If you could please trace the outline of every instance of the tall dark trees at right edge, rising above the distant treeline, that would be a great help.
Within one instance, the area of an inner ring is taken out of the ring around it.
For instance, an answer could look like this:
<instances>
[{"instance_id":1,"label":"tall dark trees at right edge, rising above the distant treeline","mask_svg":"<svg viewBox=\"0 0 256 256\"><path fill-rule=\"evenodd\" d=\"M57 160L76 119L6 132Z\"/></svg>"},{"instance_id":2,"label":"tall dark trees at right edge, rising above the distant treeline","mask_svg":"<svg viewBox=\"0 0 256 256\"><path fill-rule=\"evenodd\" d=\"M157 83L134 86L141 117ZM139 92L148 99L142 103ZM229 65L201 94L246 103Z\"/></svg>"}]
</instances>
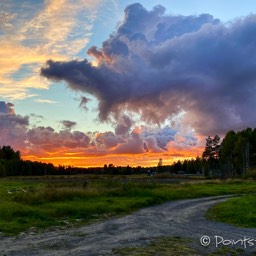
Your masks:
<instances>
[{"instance_id":1,"label":"tall dark trees at right edge, rising above the distant treeline","mask_svg":"<svg viewBox=\"0 0 256 256\"><path fill-rule=\"evenodd\" d=\"M211 177L240 177L256 170L256 129L229 131L221 141L218 135L206 138L201 157L178 161L173 173L204 174Z\"/></svg>"}]
</instances>

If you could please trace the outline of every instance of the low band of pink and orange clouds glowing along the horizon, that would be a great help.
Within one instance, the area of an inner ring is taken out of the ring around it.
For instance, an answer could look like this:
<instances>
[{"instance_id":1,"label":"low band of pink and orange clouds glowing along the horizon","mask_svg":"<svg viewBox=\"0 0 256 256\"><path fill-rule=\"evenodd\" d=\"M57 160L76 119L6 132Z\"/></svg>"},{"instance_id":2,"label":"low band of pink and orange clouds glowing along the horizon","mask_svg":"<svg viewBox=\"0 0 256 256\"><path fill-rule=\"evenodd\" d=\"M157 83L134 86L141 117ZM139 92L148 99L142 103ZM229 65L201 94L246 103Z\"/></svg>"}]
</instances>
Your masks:
<instances>
[{"instance_id":1,"label":"low band of pink and orange clouds glowing along the horizon","mask_svg":"<svg viewBox=\"0 0 256 256\"><path fill-rule=\"evenodd\" d=\"M35 114L31 117L43 118ZM117 164L119 161L117 159L124 159L126 156L127 162L119 164L133 162L134 165L150 165L152 164L150 161L154 159L157 162L163 153L168 155L170 162L176 156L173 154L179 154L181 157L196 156L194 150L201 145L197 136L191 131L182 133L171 128L170 125L136 126L127 115L118 119L114 132L84 133L73 131L76 122L62 120L60 123L62 124L60 131L50 126L36 124L31 127L28 116L17 115L12 103L0 101L0 146L10 145L15 150L20 150L25 159L55 164L63 164L62 161L65 161L65 164L86 165L88 161L93 162L88 158L94 157L103 157L100 159L101 163L103 159L108 159L111 163ZM142 155L145 155L144 162ZM87 160L82 164L81 159ZM93 165L99 165L99 159L94 161Z\"/></svg>"}]
</instances>

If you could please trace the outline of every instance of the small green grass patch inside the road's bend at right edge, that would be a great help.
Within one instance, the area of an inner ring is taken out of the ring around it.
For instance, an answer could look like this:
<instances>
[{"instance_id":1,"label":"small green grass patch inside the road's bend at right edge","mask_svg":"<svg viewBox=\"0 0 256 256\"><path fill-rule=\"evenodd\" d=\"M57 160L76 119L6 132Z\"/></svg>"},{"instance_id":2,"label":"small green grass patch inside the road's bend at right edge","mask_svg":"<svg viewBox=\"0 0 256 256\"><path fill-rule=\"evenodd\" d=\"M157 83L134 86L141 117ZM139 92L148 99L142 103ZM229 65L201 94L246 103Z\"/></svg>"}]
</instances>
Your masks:
<instances>
[{"instance_id":1,"label":"small green grass patch inside the road's bend at right edge","mask_svg":"<svg viewBox=\"0 0 256 256\"><path fill-rule=\"evenodd\" d=\"M210 208L206 217L239 227L256 228L256 195L232 198Z\"/></svg>"}]
</instances>

